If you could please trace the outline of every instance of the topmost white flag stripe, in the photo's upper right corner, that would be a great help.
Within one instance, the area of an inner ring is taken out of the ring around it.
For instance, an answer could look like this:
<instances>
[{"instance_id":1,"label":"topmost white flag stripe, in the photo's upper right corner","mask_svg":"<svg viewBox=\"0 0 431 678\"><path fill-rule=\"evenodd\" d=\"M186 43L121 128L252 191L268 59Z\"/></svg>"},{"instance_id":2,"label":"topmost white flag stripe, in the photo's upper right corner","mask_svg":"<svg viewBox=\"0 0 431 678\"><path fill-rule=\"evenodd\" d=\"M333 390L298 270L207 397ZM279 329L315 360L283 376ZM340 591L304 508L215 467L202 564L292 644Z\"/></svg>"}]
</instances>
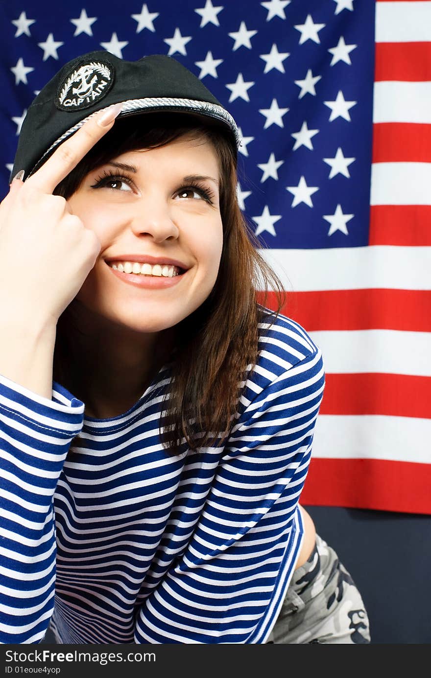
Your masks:
<instances>
[{"instance_id":1,"label":"topmost white flag stripe, in the photo's upper right corner","mask_svg":"<svg viewBox=\"0 0 431 678\"><path fill-rule=\"evenodd\" d=\"M377 2L376 42L428 42L431 2Z\"/></svg>"}]
</instances>

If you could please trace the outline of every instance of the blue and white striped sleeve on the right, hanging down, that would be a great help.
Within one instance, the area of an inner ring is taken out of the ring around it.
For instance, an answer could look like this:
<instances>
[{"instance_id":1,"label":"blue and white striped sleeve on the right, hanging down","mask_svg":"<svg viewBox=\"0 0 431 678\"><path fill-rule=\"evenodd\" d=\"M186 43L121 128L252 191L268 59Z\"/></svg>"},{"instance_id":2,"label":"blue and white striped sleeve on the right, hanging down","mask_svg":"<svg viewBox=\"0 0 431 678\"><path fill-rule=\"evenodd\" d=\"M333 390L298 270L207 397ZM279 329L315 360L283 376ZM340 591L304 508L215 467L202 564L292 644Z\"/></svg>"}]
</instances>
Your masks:
<instances>
[{"instance_id":1,"label":"blue and white striped sleeve on the right, hanging down","mask_svg":"<svg viewBox=\"0 0 431 678\"><path fill-rule=\"evenodd\" d=\"M265 643L303 540L323 388L317 348L250 401L187 550L140 607L136 643Z\"/></svg>"}]
</instances>

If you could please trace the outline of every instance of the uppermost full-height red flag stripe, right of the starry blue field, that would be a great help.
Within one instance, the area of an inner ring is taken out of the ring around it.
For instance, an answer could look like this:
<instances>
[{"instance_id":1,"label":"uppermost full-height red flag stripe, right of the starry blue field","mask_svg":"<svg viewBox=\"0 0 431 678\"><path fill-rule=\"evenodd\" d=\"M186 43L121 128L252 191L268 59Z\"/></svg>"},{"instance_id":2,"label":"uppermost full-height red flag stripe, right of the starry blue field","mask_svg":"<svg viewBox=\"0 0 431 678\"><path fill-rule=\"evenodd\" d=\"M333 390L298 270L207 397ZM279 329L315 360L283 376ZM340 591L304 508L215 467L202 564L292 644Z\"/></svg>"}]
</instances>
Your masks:
<instances>
[{"instance_id":1,"label":"uppermost full-height red flag stripe, right of the starry blue field","mask_svg":"<svg viewBox=\"0 0 431 678\"><path fill-rule=\"evenodd\" d=\"M375 82L431 80L431 43L376 43Z\"/></svg>"}]
</instances>

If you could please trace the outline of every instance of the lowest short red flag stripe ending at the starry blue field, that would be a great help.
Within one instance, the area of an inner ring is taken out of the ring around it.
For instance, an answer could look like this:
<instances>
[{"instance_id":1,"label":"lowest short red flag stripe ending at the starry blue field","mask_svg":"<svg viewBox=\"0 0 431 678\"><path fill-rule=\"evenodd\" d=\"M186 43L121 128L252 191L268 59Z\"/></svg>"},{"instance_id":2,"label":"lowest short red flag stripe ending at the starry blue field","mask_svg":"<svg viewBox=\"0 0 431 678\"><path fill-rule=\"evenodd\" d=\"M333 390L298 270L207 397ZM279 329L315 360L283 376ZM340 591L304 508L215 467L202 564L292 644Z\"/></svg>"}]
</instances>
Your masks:
<instances>
[{"instance_id":1,"label":"lowest short red flag stripe ending at the starry blue field","mask_svg":"<svg viewBox=\"0 0 431 678\"><path fill-rule=\"evenodd\" d=\"M373 205L369 245L431 245L431 205Z\"/></svg>"}]
</instances>

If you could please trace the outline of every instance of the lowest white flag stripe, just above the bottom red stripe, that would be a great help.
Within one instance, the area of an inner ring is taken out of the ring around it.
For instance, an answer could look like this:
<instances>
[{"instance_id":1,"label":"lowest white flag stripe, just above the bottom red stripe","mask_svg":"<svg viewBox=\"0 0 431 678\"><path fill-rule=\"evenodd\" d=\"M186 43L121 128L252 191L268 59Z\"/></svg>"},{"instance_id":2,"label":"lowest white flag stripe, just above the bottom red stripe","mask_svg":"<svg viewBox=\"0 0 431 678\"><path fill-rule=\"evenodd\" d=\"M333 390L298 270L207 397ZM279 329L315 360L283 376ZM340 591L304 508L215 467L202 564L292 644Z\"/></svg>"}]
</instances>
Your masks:
<instances>
[{"instance_id":1,"label":"lowest white flag stripe, just above the bottom red stripe","mask_svg":"<svg viewBox=\"0 0 431 678\"><path fill-rule=\"evenodd\" d=\"M313 456L431 463L431 420L419 417L319 414ZM312 462L313 463L313 462Z\"/></svg>"}]
</instances>

